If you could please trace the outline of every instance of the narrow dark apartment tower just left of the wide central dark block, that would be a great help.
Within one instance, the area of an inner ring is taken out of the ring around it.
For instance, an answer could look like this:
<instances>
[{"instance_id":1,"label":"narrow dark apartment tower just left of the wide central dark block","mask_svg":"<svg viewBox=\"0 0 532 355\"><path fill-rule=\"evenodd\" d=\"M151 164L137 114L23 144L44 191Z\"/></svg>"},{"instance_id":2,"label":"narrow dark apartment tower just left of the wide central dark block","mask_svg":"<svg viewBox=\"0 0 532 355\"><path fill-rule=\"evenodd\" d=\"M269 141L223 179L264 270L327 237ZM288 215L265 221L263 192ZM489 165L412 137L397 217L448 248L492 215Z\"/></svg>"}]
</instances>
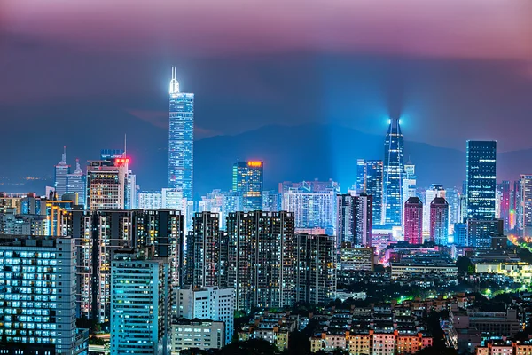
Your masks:
<instances>
[{"instance_id":1,"label":"narrow dark apartment tower just left of the wide central dark block","mask_svg":"<svg viewBox=\"0 0 532 355\"><path fill-rule=\"evenodd\" d=\"M197 212L192 217L192 231L187 236L186 277L184 287L221 286L220 216Z\"/></svg>"}]
</instances>

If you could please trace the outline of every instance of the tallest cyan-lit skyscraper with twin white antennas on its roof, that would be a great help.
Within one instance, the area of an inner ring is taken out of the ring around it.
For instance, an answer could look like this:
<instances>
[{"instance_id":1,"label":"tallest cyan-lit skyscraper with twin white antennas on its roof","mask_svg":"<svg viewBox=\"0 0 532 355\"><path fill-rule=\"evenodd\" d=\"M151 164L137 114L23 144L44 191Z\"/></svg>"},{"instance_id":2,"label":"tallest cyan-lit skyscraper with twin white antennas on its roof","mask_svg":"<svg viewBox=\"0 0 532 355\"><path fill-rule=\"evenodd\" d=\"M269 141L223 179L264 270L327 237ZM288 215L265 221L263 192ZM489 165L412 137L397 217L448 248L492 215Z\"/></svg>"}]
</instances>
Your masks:
<instances>
[{"instance_id":1,"label":"tallest cyan-lit skyscraper with twin white antennas on its roof","mask_svg":"<svg viewBox=\"0 0 532 355\"><path fill-rule=\"evenodd\" d=\"M183 197L189 201L192 201L193 150L194 94L179 92L176 67L172 67L168 136L168 187L183 191Z\"/></svg>"}]
</instances>

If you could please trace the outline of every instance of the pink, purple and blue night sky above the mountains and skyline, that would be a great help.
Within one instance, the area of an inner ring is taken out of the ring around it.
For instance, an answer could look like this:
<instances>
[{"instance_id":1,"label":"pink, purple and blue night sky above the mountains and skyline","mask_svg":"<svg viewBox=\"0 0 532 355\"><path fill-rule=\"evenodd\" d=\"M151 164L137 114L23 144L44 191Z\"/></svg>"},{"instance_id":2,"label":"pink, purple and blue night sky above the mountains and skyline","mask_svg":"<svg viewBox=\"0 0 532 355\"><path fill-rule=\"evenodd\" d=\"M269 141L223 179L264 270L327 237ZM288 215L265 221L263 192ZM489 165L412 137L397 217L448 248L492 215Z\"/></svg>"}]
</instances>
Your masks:
<instances>
[{"instance_id":1,"label":"pink, purple and blue night sky above the mountains and skyline","mask_svg":"<svg viewBox=\"0 0 532 355\"><path fill-rule=\"evenodd\" d=\"M172 65L197 139L306 123L384 136L392 114L407 141L532 148L530 19L530 0L2 0L0 176L51 175L35 166L62 146L95 158L125 132L167 154Z\"/></svg>"}]
</instances>

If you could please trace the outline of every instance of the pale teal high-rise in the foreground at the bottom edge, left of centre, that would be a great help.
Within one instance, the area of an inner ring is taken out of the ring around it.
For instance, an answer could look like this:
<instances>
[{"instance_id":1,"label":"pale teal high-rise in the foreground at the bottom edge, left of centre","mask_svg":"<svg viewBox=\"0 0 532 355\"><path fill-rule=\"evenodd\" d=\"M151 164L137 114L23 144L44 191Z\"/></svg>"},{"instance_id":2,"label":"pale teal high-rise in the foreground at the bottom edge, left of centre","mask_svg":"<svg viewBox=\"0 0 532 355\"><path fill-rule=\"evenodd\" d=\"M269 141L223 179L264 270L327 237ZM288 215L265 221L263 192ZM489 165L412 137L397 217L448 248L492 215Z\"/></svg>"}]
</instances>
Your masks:
<instances>
[{"instance_id":1,"label":"pale teal high-rise in the foreground at the bottom edge, left of centre","mask_svg":"<svg viewBox=\"0 0 532 355\"><path fill-rule=\"evenodd\" d=\"M121 248L111 264L111 353L170 353L170 264L153 247Z\"/></svg>"}]
</instances>

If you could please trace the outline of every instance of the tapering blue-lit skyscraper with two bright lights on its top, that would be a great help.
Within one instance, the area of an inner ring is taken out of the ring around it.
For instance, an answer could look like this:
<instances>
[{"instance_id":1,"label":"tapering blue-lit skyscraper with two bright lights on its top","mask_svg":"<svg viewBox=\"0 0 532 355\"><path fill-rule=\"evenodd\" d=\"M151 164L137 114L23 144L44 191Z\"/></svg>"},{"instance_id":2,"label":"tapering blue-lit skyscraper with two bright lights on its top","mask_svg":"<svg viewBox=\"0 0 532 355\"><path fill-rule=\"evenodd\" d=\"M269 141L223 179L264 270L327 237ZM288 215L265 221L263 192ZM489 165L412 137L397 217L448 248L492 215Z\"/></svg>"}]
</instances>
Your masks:
<instances>
[{"instance_id":1,"label":"tapering blue-lit skyscraper with two bright lights on its top","mask_svg":"<svg viewBox=\"0 0 532 355\"><path fill-rule=\"evenodd\" d=\"M401 225L403 214L403 133L399 119L390 119L384 142L383 211L385 225Z\"/></svg>"}]
</instances>

